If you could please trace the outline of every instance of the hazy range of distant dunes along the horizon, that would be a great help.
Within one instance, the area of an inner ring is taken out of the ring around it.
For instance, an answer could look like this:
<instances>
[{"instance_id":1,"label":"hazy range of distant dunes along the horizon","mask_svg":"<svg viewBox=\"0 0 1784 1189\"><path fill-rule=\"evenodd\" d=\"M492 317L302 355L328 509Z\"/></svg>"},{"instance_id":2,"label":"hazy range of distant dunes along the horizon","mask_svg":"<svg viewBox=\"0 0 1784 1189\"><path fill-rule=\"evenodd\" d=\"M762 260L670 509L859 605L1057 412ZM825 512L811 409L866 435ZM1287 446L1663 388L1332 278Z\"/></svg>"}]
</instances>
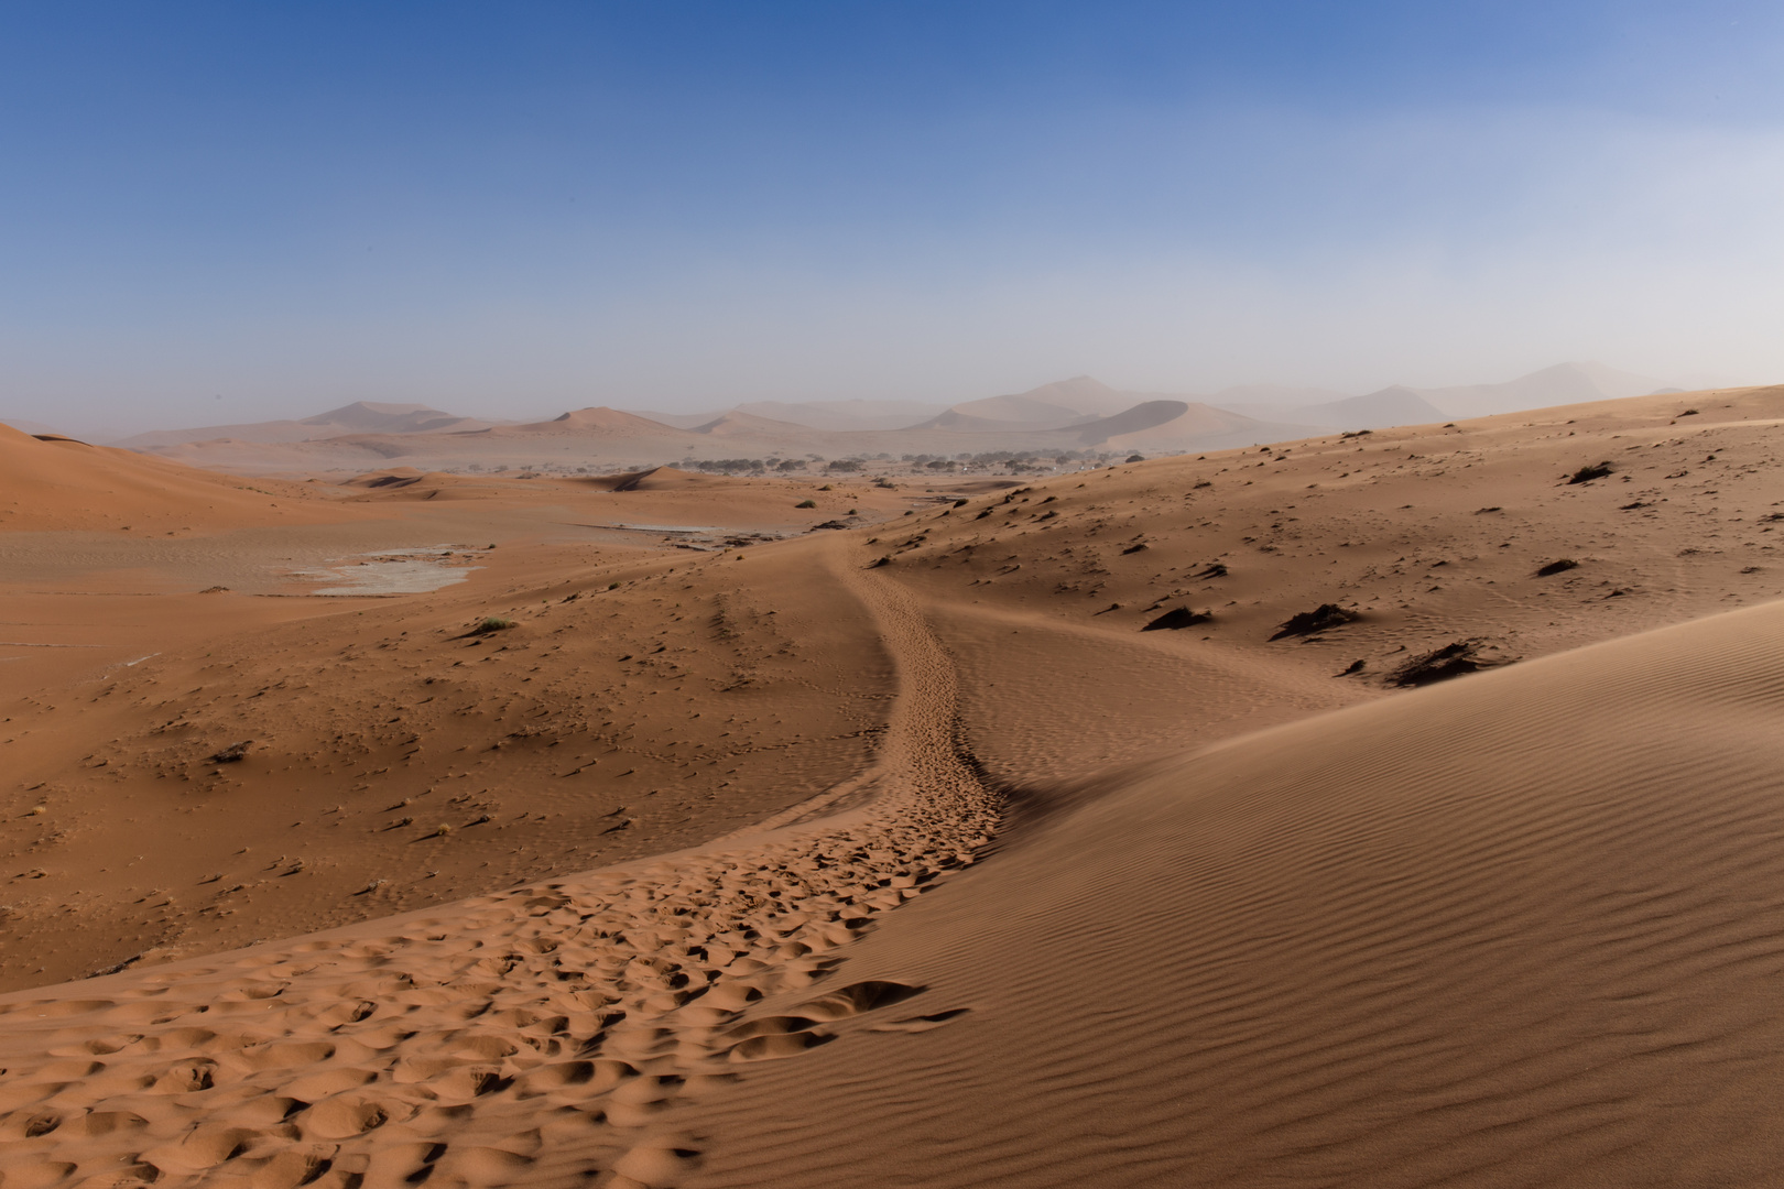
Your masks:
<instances>
[{"instance_id":1,"label":"hazy range of distant dunes along the horizon","mask_svg":"<svg viewBox=\"0 0 1784 1189\"><path fill-rule=\"evenodd\" d=\"M1195 453L1288 442L1322 430L1383 430L1454 417L1636 396L1659 383L1602 364L1561 364L1500 385L1365 396L1243 385L1211 398L1113 389L1074 376L947 408L919 401L760 401L708 414L591 406L537 422L489 422L423 405L357 403L303 421L137 435L125 446L216 471L310 474L405 460L428 471L485 467L639 469L724 458L958 456L1072 449ZM1152 422L1161 401L1197 412ZM1110 421L1127 417L1127 422ZM1145 426L1138 426L1145 421ZM1126 428L1122 428L1126 426ZM1145 435L1135 437L1140 430Z\"/></svg>"}]
</instances>

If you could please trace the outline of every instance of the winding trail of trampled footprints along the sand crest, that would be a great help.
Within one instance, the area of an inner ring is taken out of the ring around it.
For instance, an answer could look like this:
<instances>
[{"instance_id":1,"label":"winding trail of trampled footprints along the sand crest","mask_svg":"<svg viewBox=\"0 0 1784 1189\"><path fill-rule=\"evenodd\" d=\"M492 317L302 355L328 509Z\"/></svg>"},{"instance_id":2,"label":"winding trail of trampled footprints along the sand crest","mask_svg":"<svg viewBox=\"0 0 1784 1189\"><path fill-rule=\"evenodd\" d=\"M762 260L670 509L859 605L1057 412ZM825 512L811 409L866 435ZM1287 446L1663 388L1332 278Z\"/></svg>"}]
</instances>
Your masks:
<instances>
[{"instance_id":1,"label":"winding trail of trampled footprints along the sand crest","mask_svg":"<svg viewBox=\"0 0 1784 1189\"><path fill-rule=\"evenodd\" d=\"M43 1187L678 1184L703 1139L664 1132L658 1116L751 1062L838 1039L824 1025L919 993L814 984L876 914L970 863L997 824L995 793L956 745L953 665L917 601L840 549L828 560L897 672L878 761L849 783L871 800L624 868L7 996L0 1173ZM801 988L814 998L789 1014L746 1018Z\"/></svg>"}]
</instances>

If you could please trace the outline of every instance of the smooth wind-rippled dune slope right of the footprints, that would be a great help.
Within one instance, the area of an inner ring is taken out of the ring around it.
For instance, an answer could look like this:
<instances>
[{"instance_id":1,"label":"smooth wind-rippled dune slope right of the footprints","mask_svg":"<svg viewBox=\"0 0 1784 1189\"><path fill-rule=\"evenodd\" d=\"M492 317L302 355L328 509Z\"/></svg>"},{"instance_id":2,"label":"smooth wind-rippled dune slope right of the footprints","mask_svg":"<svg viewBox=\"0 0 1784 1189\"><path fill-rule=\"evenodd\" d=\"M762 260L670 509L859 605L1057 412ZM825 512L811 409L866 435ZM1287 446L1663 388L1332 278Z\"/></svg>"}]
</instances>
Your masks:
<instances>
[{"instance_id":1,"label":"smooth wind-rippled dune slope right of the footprints","mask_svg":"<svg viewBox=\"0 0 1784 1189\"><path fill-rule=\"evenodd\" d=\"M687 1184L1773 1184L1780 726L1770 604L1074 790Z\"/></svg>"}]
</instances>

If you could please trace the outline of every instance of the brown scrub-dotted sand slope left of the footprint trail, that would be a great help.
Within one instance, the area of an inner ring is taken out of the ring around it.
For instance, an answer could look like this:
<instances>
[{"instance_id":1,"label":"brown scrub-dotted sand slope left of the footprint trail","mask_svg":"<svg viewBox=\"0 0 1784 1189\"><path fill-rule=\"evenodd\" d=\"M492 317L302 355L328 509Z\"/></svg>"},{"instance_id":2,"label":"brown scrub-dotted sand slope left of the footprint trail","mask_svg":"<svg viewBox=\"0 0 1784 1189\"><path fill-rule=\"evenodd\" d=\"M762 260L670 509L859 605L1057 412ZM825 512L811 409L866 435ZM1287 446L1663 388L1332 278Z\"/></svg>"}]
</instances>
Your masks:
<instances>
[{"instance_id":1,"label":"brown scrub-dotted sand slope left of the footprint trail","mask_svg":"<svg viewBox=\"0 0 1784 1189\"><path fill-rule=\"evenodd\" d=\"M458 586L318 599L326 613L29 695L5 724L23 745L5 977L676 850L858 775L890 668L822 562L837 544L715 554L739 574L717 592L662 553L510 544ZM516 626L467 635L487 615ZM211 759L244 740L241 761Z\"/></svg>"}]
</instances>

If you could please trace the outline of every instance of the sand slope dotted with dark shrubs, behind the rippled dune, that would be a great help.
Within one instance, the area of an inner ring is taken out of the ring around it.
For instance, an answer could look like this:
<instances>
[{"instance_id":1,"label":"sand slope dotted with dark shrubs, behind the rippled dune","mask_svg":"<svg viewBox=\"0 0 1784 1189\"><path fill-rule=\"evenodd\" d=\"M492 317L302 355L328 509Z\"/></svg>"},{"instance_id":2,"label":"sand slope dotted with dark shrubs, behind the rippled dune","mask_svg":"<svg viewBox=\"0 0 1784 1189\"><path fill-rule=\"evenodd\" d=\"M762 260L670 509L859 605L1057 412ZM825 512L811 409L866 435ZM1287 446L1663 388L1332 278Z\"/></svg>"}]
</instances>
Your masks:
<instances>
[{"instance_id":1,"label":"sand slope dotted with dark shrubs, behind the rippled dune","mask_svg":"<svg viewBox=\"0 0 1784 1189\"><path fill-rule=\"evenodd\" d=\"M1058 476L867 540L946 624L981 759L1024 783L1113 761L1086 738L1111 722L1181 747L1251 677L1267 699L1293 685L1281 708L1308 713L1334 702L1286 670L1372 697L1459 640L1534 658L1780 597L1780 458L1784 389L1641 398ZM1322 604L1358 619L1272 640ZM1172 611L1210 619L1145 631ZM1103 658L1069 644L1085 633ZM1156 661L1136 654L1176 661L1177 683L1142 679ZM1029 709L1060 688L1122 711L1061 738Z\"/></svg>"}]
</instances>

